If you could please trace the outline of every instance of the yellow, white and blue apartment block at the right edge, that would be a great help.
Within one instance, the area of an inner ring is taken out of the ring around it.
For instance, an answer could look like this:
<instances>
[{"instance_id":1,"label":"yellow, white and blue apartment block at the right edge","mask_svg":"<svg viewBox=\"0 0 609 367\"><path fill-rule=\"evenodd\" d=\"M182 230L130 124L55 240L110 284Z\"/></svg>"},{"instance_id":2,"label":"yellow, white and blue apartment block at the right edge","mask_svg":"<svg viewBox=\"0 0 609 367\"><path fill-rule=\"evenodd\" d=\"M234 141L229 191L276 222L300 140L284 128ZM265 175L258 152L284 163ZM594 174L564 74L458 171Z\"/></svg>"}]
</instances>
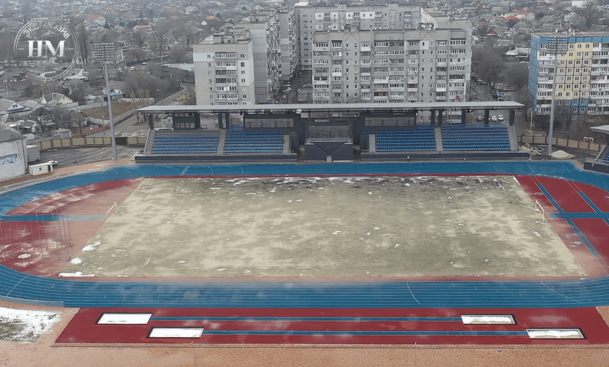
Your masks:
<instances>
[{"instance_id":1,"label":"yellow, white and blue apartment block at the right edge","mask_svg":"<svg viewBox=\"0 0 609 367\"><path fill-rule=\"evenodd\" d=\"M565 54L555 57L557 37ZM609 114L609 32L533 33L529 92L537 121L549 119L554 77L555 121Z\"/></svg>"}]
</instances>

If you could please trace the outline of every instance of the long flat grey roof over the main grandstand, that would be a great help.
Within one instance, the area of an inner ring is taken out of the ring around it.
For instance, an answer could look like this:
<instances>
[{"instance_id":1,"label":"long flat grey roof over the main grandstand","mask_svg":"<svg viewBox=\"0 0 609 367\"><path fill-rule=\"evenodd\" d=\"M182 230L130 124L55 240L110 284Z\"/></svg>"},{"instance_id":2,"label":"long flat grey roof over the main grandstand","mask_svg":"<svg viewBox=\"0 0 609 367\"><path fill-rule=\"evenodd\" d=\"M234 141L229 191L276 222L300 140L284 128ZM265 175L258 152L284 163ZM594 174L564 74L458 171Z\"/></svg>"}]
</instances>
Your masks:
<instances>
[{"instance_id":1,"label":"long flat grey roof over the main grandstand","mask_svg":"<svg viewBox=\"0 0 609 367\"><path fill-rule=\"evenodd\" d=\"M414 111L414 110L509 110L522 108L524 105L513 101L489 101L489 102L415 102L415 103L343 103L343 104L294 104L294 105L177 105L162 106L154 105L139 108L139 113L239 113L239 112L275 112L287 111Z\"/></svg>"}]
</instances>

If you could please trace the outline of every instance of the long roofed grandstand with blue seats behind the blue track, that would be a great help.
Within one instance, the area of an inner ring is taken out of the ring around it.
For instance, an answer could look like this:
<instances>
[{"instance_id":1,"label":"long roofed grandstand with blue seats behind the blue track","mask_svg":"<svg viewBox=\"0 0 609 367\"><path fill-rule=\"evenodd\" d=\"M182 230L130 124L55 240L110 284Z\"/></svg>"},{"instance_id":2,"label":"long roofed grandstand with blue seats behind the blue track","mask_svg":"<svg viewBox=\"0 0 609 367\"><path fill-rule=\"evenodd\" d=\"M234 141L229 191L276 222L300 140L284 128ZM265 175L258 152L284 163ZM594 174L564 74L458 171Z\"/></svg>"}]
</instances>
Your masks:
<instances>
[{"instance_id":1,"label":"long roofed grandstand with blue seats behind the blue track","mask_svg":"<svg viewBox=\"0 0 609 367\"><path fill-rule=\"evenodd\" d=\"M519 103L461 102L460 123L446 124L454 105L150 106L139 110L151 133L135 160L333 162L354 161L357 153L362 161L528 158L518 152L513 130ZM509 110L509 124L489 124L496 109ZM484 124L466 124L466 112L474 110L484 111ZM431 111L431 123L419 121L420 111ZM174 131L153 130L153 115L161 113L173 116ZM200 114L216 116L218 129L200 129Z\"/></svg>"}]
</instances>

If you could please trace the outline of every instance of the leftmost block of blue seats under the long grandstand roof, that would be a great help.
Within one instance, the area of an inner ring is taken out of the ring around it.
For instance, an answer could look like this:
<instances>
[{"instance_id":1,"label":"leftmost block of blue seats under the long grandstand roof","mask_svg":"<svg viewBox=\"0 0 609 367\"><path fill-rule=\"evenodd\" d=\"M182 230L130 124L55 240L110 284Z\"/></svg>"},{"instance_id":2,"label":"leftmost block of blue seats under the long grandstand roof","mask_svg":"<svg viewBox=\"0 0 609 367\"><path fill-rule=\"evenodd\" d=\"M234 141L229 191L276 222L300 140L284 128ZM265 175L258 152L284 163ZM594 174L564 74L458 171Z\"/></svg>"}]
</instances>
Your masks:
<instances>
[{"instance_id":1,"label":"leftmost block of blue seats under the long grandstand roof","mask_svg":"<svg viewBox=\"0 0 609 367\"><path fill-rule=\"evenodd\" d=\"M152 153L216 153L219 135L155 135Z\"/></svg>"}]
</instances>

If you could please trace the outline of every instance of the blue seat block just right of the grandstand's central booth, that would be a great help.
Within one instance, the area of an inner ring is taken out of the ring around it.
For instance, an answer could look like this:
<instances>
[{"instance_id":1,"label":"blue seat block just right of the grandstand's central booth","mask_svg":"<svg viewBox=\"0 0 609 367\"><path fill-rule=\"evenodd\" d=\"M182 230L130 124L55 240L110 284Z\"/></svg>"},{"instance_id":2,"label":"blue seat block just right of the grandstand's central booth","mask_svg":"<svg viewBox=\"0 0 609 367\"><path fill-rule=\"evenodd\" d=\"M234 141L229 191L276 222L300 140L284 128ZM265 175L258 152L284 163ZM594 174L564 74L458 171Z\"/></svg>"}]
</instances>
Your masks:
<instances>
[{"instance_id":1,"label":"blue seat block just right of the grandstand's central booth","mask_svg":"<svg viewBox=\"0 0 609 367\"><path fill-rule=\"evenodd\" d=\"M435 150L435 133L431 125L419 125L415 130L377 130L376 152L407 152Z\"/></svg>"}]
</instances>

